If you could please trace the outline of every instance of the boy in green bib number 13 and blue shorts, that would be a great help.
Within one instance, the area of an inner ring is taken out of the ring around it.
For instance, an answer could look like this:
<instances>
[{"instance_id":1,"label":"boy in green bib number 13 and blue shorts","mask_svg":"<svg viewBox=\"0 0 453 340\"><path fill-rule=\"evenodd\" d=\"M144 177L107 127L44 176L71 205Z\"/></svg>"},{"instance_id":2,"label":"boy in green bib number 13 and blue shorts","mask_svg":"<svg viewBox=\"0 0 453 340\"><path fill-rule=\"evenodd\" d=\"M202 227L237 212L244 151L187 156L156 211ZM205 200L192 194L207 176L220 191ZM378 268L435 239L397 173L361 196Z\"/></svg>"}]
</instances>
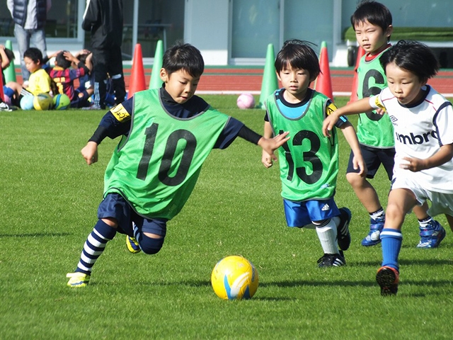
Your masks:
<instances>
[{"instance_id":1,"label":"boy in green bib number 13 and blue shorts","mask_svg":"<svg viewBox=\"0 0 453 340\"><path fill-rule=\"evenodd\" d=\"M307 42L285 42L277 54L275 71L283 88L265 101L264 136L282 131L291 135L291 140L278 150L287 225L316 229L324 252L319 267L344 266L343 250L351 242L351 212L348 208L338 209L333 200L338 175L337 135L326 138L321 130L324 118L336 106L309 88L320 69L318 57ZM346 118L337 126L354 152L354 168L365 176L367 170L354 128ZM262 162L272 166L272 155L265 150Z\"/></svg>"}]
</instances>

